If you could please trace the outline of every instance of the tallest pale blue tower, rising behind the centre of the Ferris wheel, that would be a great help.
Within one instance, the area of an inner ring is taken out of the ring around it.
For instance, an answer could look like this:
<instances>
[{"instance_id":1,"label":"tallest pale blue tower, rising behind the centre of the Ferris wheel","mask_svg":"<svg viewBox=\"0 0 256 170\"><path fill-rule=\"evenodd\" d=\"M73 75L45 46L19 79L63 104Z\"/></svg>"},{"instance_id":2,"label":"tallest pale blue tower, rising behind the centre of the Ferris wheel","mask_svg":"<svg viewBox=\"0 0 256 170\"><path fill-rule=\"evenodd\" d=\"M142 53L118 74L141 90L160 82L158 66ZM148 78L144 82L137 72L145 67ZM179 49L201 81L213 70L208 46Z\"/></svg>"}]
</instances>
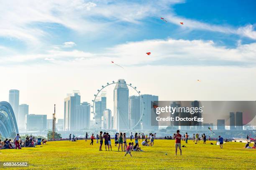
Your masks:
<instances>
[{"instance_id":1,"label":"tallest pale blue tower, rising behind the centre of the Ferris wheel","mask_svg":"<svg viewBox=\"0 0 256 170\"><path fill-rule=\"evenodd\" d=\"M129 89L124 79L119 79L114 88L114 129L128 129Z\"/></svg>"}]
</instances>

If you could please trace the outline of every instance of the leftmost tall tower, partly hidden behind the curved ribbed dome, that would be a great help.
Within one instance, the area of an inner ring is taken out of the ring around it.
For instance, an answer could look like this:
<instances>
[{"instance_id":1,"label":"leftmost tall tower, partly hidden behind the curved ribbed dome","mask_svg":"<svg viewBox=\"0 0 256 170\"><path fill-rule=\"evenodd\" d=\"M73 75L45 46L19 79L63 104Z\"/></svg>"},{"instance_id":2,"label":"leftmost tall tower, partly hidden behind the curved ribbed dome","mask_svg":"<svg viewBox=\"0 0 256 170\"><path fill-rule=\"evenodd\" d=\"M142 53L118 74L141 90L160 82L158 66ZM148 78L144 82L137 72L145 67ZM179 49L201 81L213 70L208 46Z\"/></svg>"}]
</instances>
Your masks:
<instances>
[{"instance_id":1,"label":"leftmost tall tower, partly hidden behind the curved ribbed dome","mask_svg":"<svg viewBox=\"0 0 256 170\"><path fill-rule=\"evenodd\" d=\"M15 114L18 127L19 127L19 98L20 98L19 90L9 90L9 103L13 107L13 112Z\"/></svg>"}]
</instances>

